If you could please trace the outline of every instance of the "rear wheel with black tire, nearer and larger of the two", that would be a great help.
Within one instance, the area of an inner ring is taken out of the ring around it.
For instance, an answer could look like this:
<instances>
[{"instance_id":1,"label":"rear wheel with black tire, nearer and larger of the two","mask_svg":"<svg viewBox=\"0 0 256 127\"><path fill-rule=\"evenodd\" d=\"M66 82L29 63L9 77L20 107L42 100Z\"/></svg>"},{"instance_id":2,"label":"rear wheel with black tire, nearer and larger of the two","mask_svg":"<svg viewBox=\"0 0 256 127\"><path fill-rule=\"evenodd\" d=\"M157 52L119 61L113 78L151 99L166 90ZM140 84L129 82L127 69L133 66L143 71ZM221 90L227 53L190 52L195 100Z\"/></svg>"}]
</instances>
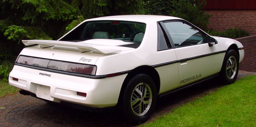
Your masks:
<instances>
[{"instance_id":1,"label":"rear wheel with black tire, nearer and larger of the two","mask_svg":"<svg viewBox=\"0 0 256 127\"><path fill-rule=\"evenodd\" d=\"M143 92L141 92L140 94L139 92L137 92L137 90L143 89L142 86L144 86L144 88L147 88L147 89L146 90L144 89L146 93L142 90ZM139 89L136 89L136 88L139 88ZM151 99L150 99L150 90L151 90L151 97L152 97ZM144 98L143 96L140 96L140 95L143 95L146 97ZM140 99L140 101L138 101L138 99ZM127 121L133 124L143 123L147 119L149 119L150 115L154 111L156 100L157 100L157 90L152 78L143 73L135 75L128 81L126 89L124 90L124 93L123 93L123 98L121 102L122 103L121 110L123 112L123 116L127 119ZM132 102L134 104L133 106L132 106Z\"/></svg>"}]
</instances>

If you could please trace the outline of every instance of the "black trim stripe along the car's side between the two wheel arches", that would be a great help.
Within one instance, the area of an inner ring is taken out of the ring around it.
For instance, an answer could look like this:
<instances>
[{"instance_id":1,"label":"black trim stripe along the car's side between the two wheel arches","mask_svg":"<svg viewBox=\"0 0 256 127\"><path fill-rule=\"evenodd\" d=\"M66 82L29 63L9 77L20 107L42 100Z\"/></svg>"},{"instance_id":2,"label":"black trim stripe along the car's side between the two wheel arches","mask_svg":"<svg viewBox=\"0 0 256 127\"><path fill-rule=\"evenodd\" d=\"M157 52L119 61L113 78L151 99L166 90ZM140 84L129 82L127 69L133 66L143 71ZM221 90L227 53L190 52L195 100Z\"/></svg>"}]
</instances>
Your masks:
<instances>
[{"instance_id":1,"label":"black trim stripe along the car's side between the two wheel arches","mask_svg":"<svg viewBox=\"0 0 256 127\"><path fill-rule=\"evenodd\" d=\"M210 56L210 55L221 54L221 53L224 53L224 52L227 52L227 50L223 50L223 51L219 51L219 52L213 52L213 53L210 53L210 54L199 55L199 56L196 56L196 57L189 57L189 58L185 58L185 59L182 59L182 60L175 60L175 61L170 61L170 62L166 62L166 63L156 64L156 65L152 65L152 67L161 67L161 66L165 66L165 65L169 65L169 64L174 64L174 63L193 60L193 59L197 59L197 58L207 57L207 56Z\"/></svg>"}]
</instances>

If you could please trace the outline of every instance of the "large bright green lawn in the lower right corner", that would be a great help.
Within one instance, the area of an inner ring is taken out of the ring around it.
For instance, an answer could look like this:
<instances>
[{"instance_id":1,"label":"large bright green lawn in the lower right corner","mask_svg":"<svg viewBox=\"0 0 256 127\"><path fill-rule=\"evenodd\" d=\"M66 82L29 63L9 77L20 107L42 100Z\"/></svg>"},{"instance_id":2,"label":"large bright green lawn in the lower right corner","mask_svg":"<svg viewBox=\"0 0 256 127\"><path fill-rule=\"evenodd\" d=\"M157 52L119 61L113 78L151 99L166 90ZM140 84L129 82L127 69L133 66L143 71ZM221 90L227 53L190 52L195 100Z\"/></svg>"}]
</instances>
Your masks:
<instances>
[{"instance_id":1,"label":"large bright green lawn in the lower right corner","mask_svg":"<svg viewBox=\"0 0 256 127\"><path fill-rule=\"evenodd\" d=\"M223 86L141 127L256 127L256 75Z\"/></svg>"}]
</instances>

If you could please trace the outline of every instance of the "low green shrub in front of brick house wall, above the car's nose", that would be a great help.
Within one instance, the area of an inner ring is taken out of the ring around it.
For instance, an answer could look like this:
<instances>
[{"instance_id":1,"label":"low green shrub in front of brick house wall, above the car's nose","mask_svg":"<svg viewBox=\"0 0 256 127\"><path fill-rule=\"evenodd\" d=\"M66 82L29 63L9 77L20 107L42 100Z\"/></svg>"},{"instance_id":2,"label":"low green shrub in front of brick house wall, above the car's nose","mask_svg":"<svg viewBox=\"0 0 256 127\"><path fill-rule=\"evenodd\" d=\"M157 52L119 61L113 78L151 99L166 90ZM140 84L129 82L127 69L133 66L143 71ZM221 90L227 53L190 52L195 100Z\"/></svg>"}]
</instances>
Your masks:
<instances>
[{"instance_id":1,"label":"low green shrub in front of brick house wall, above the car's nose","mask_svg":"<svg viewBox=\"0 0 256 127\"><path fill-rule=\"evenodd\" d=\"M241 28L230 28L226 31L214 31L212 29L206 31L209 35L227 37L227 38L240 38L250 36L250 34Z\"/></svg>"}]
</instances>

